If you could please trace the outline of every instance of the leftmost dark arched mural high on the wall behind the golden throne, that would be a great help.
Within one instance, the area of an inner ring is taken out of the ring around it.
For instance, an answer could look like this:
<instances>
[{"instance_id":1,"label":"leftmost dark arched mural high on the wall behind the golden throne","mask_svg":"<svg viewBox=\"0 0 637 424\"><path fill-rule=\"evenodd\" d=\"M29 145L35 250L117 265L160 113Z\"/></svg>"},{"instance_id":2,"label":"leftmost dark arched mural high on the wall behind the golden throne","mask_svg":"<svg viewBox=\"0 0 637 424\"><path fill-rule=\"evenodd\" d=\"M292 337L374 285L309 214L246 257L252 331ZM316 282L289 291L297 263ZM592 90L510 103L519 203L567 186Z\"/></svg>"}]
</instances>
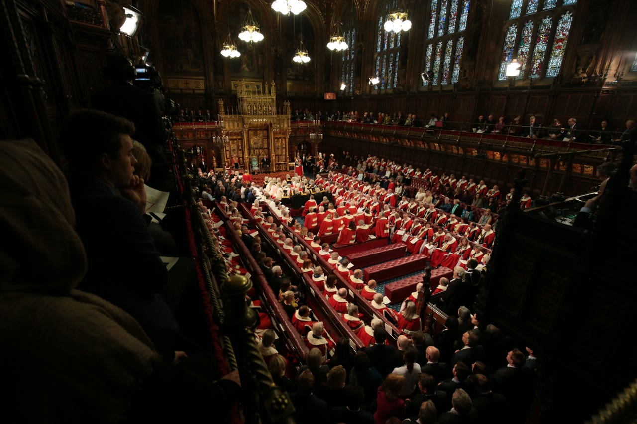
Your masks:
<instances>
[{"instance_id":1,"label":"leftmost dark arched mural high on the wall behind the golden throne","mask_svg":"<svg viewBox=\"0 0 637 424\"><path fill-rule=\"evenodd\" d=\"M166 73L203 73L201 24L190 1L162 0L157 6L157 29Z\"/></svg>"}]
</instances>

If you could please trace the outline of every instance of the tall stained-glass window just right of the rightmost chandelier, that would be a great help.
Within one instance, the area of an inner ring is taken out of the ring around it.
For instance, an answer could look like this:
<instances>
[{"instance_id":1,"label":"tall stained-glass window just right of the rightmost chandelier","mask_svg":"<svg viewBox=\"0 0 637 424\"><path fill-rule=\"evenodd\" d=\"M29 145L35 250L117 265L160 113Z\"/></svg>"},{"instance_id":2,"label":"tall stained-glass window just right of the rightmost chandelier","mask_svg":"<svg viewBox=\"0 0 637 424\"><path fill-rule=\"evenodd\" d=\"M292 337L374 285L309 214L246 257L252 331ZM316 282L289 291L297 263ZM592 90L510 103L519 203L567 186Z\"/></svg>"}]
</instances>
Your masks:
<instances>
[{"instance_id":1,"label":"tall stained-glass window just right of the rightmost chandelier","mask_svg":"<svg viewBox=\"0 0 637 424\"><path fill-rule=\"evenodd\" d=\"M424 63L425 71L431 71L431 76L422 85L458 81L468 16L469 0L431 1Z\"/></svg>"}]
</instances>

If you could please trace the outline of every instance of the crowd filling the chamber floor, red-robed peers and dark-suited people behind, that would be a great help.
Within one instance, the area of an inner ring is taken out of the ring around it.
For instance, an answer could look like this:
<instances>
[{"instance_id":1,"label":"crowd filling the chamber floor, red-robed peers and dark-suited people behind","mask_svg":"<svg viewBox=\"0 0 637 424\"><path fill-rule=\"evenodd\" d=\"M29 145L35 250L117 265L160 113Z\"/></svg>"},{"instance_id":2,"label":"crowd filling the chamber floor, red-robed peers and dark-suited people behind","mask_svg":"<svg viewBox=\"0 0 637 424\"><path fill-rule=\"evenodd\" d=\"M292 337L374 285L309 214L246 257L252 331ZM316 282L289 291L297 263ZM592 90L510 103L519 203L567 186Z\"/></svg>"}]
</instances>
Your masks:
<instances>
[{"instance_id":1,"label":"crowd filling the chamber floor, red-robed peers and dark-suited people behind","mask_svg":"<svg viewBox=\"0 0 637 424\"><path fill-rule=\"evenodd\" d=\"M368 160L369 165L380 169L382 161L375 164L377 159ZM402 171L397 171L398 167L391 162L385 167L392 173ZM232 178L222 176L220 180L224 185L231 183ZM499 422L504 417L510 422L521 421L533 399L534 352L526 348L526 355L523 354L524 344L516 348L486 317L472 314L469 309L475 299L479 271L488 261L488 247L494 239L490 223L497 217L491 215L488 222L485 219L480 224L473 219L459 220L458 216L466 218L461 212L466 204L457 206L455 202L443 201L436 206L433 195L424 188L413 198L401 196L397 201L389 186L394 181L389 181L385 188L384 183L371 185L343 173L330 173L327 178L317 176L315 180L290 178L285 187L292 192L304 187L308 192L329 192L334 197L334 202L324 198L320 203L310 198L303 208L303 224L288 219L290 211L278 196L283 184L275 179L266 178L263 185L250 183L243 190L248 193L245 197L251 203L249 209L237 201L218 202L282 303L287 318L310 349L308 357L303 358L306 365L299 369L290 367L290 352L280 352L281 346L276 346L276 340L285 335L277 334L278 329L273 327L266 328L270 320L262 317L263 325L257 330L259 349L275 382L291 393L297 420L303 422L385 423L393 418L419 423L486 423ZM482 185L472 184L473 192L482 190ZM210 222L215 243L226 252L228 270L245 272L233 262L232 243L223 238L223 227L217 229L215 225L218 217L203 204L200 208ZM454 209L459 215L452 213ZM259 225L262 229L256 234L254 230ZM392 311L403 334L397 337L396 346L387 344L390 338L385 330L387 321L373 318L367 322L359 311L361 304L354 302L355 299L360 302L361 298L353 299L352 293L339 283L346 281L352 292L360 293L373 307L389 309L375 290L376 281L365 283L361 269L341 258L329 243L322 242L322 238L329 236L336 236L337 244L364 243L369 237L399 241L407 236L408 246L416 245L411 253L420 251L432 261L452 265L454 278L441 279L436 289L445 292L441 308L448 318L443 330L433 336L422 331L420 318L415 314L418 288L399 313ZM410 243L411 239L416 243ZM422 243L418 245L419 241ZM277 264L264 248L278 253L284 263ZM283 269L288 269L289 276ZM292 280L297 285L292 285ZM333 314L366 347L353 350L350 338L331 334L317 311L306 304L303 292L307 289L303 285L311 285L312 290L322 293ZM254 305L258 300L248 302Z\"/></svg>"}]
</instances>

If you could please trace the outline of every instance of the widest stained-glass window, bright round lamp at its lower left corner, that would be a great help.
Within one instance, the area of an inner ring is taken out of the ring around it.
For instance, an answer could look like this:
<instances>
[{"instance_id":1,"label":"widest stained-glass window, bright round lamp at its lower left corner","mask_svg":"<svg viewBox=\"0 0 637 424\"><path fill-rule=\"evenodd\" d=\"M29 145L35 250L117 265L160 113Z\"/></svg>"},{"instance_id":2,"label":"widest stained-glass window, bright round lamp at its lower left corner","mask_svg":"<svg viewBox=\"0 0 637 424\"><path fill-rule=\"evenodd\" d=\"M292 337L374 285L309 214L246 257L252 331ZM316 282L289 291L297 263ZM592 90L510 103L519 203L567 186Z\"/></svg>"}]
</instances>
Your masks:
<instances>
[{"instance_id":1,"label":"widest stained-glass window, bright round lamp at its lower left corner","mask_svg":"<svg viewBox=\"0 0 637 424\"><path fill-rule=\"evenodd\" d=\"M497 79L506 80L506 64L513 58L520 63L517 79L557 76L573 22L572 5L576 3L577 0L513 0Z\"/></svg>"}]
</instances>

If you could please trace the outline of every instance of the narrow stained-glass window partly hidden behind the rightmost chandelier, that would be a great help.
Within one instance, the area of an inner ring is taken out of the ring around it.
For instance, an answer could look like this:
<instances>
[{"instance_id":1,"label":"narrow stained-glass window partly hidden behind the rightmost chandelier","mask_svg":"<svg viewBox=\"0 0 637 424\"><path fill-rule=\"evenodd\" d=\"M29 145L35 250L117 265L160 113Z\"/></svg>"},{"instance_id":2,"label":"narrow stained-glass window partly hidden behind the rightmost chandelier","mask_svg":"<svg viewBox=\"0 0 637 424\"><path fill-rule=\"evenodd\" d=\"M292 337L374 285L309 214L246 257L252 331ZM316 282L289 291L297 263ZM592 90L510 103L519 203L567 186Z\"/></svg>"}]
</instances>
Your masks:
<instances>
[{"instance_id":1,"label":"narrow stained-glass window partly hidden behind the rightmost chandelier","mask_svg":"<svg viewBox=\"0 0 637 424\"><path fill-rule=\"evenodd\" d=\"M375 72L380 82L373 86L374 90L393 90L396 88L398 60L400 59L401 32L385 31L385 22L389 14L398 10L397 0L387 0L378 16L378 38L374 53Z\"/></svg>"}]
</instances>

